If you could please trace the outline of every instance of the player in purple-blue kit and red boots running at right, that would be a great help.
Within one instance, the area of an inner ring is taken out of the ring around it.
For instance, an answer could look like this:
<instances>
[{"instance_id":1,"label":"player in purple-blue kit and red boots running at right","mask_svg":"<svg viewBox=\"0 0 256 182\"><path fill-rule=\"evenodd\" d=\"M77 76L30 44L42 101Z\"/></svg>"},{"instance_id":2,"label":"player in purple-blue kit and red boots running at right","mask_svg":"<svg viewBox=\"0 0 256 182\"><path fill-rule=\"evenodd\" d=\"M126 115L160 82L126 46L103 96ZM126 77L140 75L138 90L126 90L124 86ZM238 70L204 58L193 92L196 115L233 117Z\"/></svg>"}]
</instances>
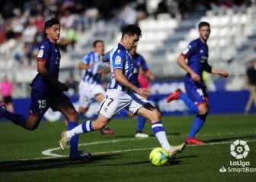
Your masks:
<instances>
[{"instance_id":1,"label":"player in purple-blue kit and red boots running at right","mask_svg":"<svg viewBox=\"0 0 256 182\"><path fill-rule=\"evenodd\" d=\"M178 64L187 72L184 78L187 94L182 93L181 89L177 89L167 98L168 102L181 99L185 105L196 114L194 124L190 128L186 139L186 143L192 145L203 145L203 142L195 136L200 131L201 127L203 127L209 109L206 86L202 80L203 71L222 77L229 76L226 71L217 70L208 64L208 46L206 42L210 36L210 24L200 22L198 31L200 37L190 42L187 49L178 56Z\"/></svg>"}]
</instances>

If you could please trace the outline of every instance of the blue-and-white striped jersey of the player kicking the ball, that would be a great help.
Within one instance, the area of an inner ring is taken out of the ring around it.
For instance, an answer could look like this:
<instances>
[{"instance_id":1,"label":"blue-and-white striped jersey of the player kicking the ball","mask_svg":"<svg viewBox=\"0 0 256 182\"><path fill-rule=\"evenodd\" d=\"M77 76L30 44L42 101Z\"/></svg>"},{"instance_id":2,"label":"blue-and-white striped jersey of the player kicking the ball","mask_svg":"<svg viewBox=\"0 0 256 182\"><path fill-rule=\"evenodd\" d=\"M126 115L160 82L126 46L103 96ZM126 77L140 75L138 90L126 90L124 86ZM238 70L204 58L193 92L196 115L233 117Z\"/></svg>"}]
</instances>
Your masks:
<instances>
[{"instance_id":1,"label":"blue-and-white striped jersey of the player kicking the ball","mask_svg":"<svg viewBox=\"0 0 256 182\"><path fill-rule=\"evenodd\" d=\"M123 92L130 92L126 86L122 86L114 78L114 69L122 69L124 76L133 83L133 58L128 50L121 44L110 51L111 79L107 89L117 89Z\"/></svg>"}]
</instances>

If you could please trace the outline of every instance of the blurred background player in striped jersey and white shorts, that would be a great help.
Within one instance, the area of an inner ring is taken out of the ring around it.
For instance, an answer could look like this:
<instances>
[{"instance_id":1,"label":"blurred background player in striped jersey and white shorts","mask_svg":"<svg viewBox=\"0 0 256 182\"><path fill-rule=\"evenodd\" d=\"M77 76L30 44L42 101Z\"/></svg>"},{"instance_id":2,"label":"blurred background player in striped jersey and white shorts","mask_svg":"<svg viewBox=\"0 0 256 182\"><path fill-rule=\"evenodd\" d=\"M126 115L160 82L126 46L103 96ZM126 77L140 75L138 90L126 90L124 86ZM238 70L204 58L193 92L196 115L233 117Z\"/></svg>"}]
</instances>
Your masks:
<instances>
[{"instance_id":1,"label":"blurred background player in striped jersey and white shorts","mask_svg":"<svg viewBox=\"0 0 256 182\"><path fill-rule=\"evenodd\" d=\"M85 115L93 99L98 102L104 100L105 90L101 86L102 74L110 72L109 65L102 61L104 55L104 42L95 40L93 42L94 51L85 55L83 61L78 64L80 70L85 70L85 75L79 83L79 108L78 112ZM114 134L114 130L104 127L102 134Z\"/></svg>"}]
</instances>

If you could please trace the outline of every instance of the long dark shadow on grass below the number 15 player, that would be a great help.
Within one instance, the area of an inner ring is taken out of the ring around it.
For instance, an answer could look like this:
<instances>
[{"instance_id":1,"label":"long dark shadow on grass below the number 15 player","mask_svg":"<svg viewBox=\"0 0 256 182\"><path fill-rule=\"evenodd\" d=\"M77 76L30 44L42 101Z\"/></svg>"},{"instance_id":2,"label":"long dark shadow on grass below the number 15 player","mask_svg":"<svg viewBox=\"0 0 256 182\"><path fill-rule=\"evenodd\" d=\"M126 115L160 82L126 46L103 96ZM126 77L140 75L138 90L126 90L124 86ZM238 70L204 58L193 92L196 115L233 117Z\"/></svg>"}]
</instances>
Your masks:
<instances>
[{"instance_id":1,"label":"long dark shadow on grass below the number 15 player","mask_svg":"<svg viewBox=\"0 0 256 182\"><path fill-rule=\"evenodd\" d=\"M95 155L90 159L71 161L69 158L46 158L0 162L1 172L36 171L50 168L69 168L95 165L98 161L120 157L121 154Z\"/></svg>"}]
</instances>

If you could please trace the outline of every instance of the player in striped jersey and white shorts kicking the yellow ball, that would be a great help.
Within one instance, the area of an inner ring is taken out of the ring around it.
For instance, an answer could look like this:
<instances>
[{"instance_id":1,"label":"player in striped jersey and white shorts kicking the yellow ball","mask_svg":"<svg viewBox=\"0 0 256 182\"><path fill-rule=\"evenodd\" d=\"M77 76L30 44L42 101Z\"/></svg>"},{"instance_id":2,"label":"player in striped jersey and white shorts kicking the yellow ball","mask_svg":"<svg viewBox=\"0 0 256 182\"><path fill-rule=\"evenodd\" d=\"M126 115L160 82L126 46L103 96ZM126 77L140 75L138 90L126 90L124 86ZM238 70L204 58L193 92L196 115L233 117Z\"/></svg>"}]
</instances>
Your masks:
<instances>
[{"instance_id":1,"label":"player in striped jersey and white shorts kicking the yellow ball","mask_svg":"<svg viewBox=\"0 0 256 182\"><path fill-rule=\"evenodd\" d=\"M106 98L101 102L98 118L95 121L86 121L72 130L64 131L59 142L62 150L66 148L72 137L101 130L122 108L148 118L152 123L155 137L171 157L184 149L185 143L170 146L158 110L145 99L149 96L149 91L133 84L134 65L129 51L137 44L140 36L141 30L136 25L128 25L123 29L120 43L110 52L111 80L107 87Z\"/></svg>"}]
</instances>

